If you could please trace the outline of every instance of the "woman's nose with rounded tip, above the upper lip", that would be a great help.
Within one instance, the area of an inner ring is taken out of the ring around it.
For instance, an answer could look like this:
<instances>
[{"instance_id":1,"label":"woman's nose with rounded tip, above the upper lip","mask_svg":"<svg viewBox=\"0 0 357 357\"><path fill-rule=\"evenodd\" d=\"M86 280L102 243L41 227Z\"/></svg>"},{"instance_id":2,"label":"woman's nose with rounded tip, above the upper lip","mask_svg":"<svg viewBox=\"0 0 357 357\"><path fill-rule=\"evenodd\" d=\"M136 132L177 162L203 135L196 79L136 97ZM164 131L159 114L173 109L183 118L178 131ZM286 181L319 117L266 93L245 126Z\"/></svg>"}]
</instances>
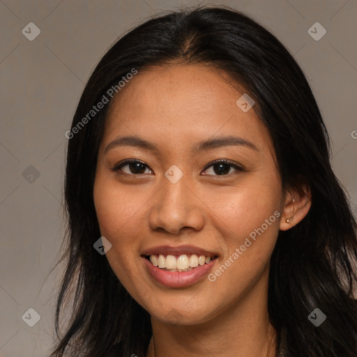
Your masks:
<instances>
[{"instance_id":1,"label":"woman's nose with rounded tip, above the upper lip","mask_svg":"<svg viewBox=\"0 0 357 357\"><path fill-rule=\"evenodd\" d=\"M164 229L170 234L183 230L199 231L204 227L204 203L195 193L194 185L188 185L185 175L176 183L164 176L159 192L152 199L149 226L153 230Z\"/></svg>"}]
</instances>

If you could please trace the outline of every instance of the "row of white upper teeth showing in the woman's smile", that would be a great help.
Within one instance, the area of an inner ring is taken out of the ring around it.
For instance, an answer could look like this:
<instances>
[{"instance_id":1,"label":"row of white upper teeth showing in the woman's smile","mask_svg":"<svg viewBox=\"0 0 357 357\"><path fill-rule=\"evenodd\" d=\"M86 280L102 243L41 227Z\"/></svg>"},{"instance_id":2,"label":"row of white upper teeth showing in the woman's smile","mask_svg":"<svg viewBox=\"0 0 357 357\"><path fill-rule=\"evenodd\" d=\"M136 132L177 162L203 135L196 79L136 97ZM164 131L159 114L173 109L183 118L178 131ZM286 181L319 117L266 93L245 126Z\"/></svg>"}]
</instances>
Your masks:
<instances>
[{"instance_id":1,"label":"row of white upper teeth showing in the woman's smile","mask_svg":"<svg viewBox=\"0 0 357 357\"><path fill-rule=\"evenodd\" d=\"M190 271L197 266L202 266L208 264L212 257L205 257L200 255L199 257L195 254L190 255L180 255L177 259L174 255L151 255L150 261L153 266L158 266L165 271Z\"/></svg>"}]
</instances>

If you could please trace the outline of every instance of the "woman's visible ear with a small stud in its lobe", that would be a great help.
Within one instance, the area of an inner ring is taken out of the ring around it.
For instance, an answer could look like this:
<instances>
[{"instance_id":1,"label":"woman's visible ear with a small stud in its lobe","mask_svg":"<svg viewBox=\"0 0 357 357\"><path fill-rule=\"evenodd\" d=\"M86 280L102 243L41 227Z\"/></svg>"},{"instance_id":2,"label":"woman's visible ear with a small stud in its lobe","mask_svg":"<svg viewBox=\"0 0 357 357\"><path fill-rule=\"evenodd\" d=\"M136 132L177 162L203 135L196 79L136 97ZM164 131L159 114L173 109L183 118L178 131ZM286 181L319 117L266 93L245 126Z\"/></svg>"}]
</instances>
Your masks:
<instances>
[{"instance_id":1,"label":"woman's visible ear with a small stud in its lobe","mask_svg":"<svg viewBox=\"0 0 357 357\"><path fill-rule=\"evenodd\" d=\"M287 231L301 222L311 207L311 191L307 185L301 192L289 190L285 194L284 208L280 217L280 231Z\"/></svg>"}]
</instances>

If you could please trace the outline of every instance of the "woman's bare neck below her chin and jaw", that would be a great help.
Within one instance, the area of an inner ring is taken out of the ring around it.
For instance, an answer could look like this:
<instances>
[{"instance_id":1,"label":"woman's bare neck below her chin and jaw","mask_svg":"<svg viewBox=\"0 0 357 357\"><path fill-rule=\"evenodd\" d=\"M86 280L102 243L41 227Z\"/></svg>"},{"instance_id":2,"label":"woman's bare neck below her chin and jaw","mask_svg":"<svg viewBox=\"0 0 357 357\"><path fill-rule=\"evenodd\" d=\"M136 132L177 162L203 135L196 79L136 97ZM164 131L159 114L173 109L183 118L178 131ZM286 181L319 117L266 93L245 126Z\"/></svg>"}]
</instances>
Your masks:
<instances>
[{"instance_id":1,"label":"woman's bare neck below her chin and jaw","mask_svg":"<svg viewBox=\"0 0 357 357\"><path fill-rule=\"evenodd\" d=\"M153 336L146 357L275 357L276 331L267 302L265 281L202 324L165 324L151 317Z\"/></svg>"}]
</instances>

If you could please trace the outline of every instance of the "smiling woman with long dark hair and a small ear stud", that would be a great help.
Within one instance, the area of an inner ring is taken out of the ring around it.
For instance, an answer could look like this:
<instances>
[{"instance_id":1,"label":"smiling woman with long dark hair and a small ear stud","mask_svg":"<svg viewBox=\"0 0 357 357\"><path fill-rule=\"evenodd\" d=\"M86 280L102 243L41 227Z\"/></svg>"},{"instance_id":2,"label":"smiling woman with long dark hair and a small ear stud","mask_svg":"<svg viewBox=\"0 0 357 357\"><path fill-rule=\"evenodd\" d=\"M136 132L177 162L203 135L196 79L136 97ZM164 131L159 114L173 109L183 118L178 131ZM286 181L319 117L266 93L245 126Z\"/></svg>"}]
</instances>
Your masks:
<instances>
[{"instance_id":1,"label":"smiling woman with long dark hair and a small ear stud","mask_svg":"<svg viewBox=\"0 0 357 357\"><path fill-rule=\"evenodd\" d=\"M356 221L266 29L228 8L137 26L66 136L57 333L74 302L52 356L356 356Z\"/></svg>"}]
</instances>

